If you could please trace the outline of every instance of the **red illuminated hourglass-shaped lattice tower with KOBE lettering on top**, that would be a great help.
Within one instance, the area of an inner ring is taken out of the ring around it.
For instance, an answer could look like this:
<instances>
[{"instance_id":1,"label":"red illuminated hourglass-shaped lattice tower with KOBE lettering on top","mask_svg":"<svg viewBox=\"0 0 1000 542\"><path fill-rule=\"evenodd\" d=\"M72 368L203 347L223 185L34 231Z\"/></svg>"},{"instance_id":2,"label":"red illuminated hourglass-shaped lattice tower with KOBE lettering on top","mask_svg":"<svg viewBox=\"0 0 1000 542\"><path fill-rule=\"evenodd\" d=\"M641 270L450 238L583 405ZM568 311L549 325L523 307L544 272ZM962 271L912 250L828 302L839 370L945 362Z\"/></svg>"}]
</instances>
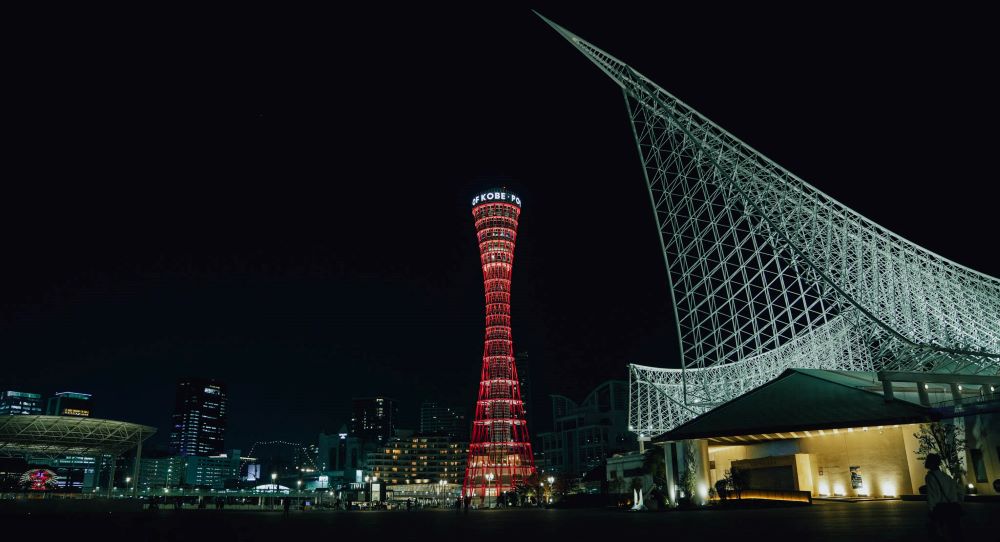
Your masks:
<instances>
[{"instance_id":1,"label":"red illuminated hourglass-shaped lattice tower with KOBE lettering on top","mask_svg":"<svg viewBox=\"0 0 1000 542\"><path fill-rule=\"evenodd\" d=\"M505 190L472 200L486 289L486 344L462 493L480 500L495 499L535 473L510 333L510 273L520 214L521 199Z\"/></svg>"}]
</instances>

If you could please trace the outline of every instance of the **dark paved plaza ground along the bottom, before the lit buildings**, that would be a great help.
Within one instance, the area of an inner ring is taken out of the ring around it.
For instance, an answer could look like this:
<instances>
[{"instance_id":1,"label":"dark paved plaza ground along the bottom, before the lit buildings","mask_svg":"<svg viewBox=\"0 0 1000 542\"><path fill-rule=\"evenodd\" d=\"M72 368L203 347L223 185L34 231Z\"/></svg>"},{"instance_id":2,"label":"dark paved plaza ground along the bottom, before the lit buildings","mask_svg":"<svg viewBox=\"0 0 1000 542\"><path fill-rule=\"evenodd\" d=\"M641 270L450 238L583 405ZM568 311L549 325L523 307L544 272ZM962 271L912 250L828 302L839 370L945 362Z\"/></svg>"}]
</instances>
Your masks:
<instances>
[{"instance_id":1,"label":"dark paved plaza ground along the bottom, before the lit buildings","mask_svg":"<svg viewBox=\"0 0 1000 542\"><path fill-rule=\"evenodd\" d=\"M758 510L630 513L615 510L293 511L159 510L82 511L41 506L0 508L4 535L33 532L61 540L260 541L331 540L543 540L567 537L628 542L644 536L690 540L927 540L923 502L819 503ZM970 540L1000 540L1000 504L966 504ZM30 511L30 513L29 513ZM358 537L358 538L355 538ZM4 539L16 540L17 538Z\"/></svg>"}]
</instances>

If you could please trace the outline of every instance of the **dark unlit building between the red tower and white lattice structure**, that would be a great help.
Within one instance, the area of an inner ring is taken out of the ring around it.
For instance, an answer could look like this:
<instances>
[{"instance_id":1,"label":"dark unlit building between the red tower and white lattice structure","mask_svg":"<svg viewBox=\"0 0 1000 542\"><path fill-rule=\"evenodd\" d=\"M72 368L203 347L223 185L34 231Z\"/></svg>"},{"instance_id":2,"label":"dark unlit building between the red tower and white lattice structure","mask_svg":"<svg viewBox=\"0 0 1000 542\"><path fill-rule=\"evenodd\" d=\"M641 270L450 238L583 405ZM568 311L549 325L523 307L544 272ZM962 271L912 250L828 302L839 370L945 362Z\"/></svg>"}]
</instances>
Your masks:
<instances>
[{"instance_id":1,"label":"dark unlit building between the red tower and white lattice structure","mask_svg":"<svg viewBox=\"0 0 1000 542\"><path fill-rule=\"evenodd\" d=\"M579 405L562 395L551 398L553 430L539 435L550 470L582 476L611 455L638 446L635 434L628 430L627 382L604 382Z\"/></svg>"}]
</instances>

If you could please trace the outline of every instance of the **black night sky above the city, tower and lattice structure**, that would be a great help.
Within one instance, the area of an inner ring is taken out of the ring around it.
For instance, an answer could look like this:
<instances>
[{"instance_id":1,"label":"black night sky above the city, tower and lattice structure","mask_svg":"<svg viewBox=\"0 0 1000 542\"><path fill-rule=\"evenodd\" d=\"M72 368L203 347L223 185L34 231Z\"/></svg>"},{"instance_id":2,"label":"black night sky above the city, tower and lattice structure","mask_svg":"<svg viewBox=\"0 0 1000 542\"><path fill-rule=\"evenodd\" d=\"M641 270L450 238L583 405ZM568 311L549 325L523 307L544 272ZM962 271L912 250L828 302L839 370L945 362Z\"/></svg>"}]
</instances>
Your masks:
<instances>
[{"instance_id":1,"label":"black night sky above the city, tower and lattice structure","mask_svg":"<svg viewBox=\"0 0 1000 542\"><path fill-rule=\"evenodd\" d=\"M836 6L836 7L835 7ZM814 186L1000 275L985 13L545 7ZM920 8L923 9L923 8ZM471 410L470 202L524 203L515 348L547 395L677 366L621 92L528 6L233 13L68 29L8 67L0 388L156 426L229 384L228 447L314 442L350 398Z\"/></svg>"}]
</instances>

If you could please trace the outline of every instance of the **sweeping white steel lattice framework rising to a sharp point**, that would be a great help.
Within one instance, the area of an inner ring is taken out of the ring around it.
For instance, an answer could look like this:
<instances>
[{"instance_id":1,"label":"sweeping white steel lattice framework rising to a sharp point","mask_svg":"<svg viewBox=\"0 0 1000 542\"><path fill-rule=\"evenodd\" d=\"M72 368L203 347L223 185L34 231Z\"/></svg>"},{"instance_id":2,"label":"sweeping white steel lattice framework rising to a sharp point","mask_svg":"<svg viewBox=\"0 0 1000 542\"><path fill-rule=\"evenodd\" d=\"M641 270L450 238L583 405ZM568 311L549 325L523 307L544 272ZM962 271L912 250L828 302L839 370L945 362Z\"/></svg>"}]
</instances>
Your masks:
<instances>
[{"instance_id":1,"label":"sweeping white steel lattice framework rising to a sharp point","mask_svg":"<svg viewBox=\"0 0 1000 542\"><path fill-rule=\"evenodd\" d=\"M866 219L545 21L622 88L660 233L681 368L630 365L631 430L670 430L791 367L1000 372L1000 280Z\"/></svg>"}]
</instances>

